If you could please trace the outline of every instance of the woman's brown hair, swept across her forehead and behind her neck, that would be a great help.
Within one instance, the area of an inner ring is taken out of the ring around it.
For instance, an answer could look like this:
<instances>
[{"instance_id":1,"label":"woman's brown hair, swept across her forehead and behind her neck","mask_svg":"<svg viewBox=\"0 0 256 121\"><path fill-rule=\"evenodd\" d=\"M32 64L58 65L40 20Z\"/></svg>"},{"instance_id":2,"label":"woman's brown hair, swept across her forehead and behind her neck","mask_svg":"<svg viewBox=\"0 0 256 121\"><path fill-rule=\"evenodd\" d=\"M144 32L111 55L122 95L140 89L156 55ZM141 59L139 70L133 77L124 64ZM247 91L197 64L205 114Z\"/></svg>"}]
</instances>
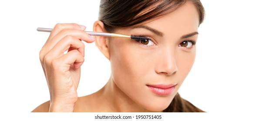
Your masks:
<instances>
[{"instance_id":1,"label":"woman's brown hair, swept across her forehead and behind her neck","mask_svg":"<svg viewBox=\"0 0 256 121\"><path fill-rule=\"evenodd\" d=\"M147 20L164 16L191 1L199 13L199 25L203 22L205 11L200 0L101 0L99 20L107 32L117 28L132 28ZM203 112L176 94L164 112Z\"/></svg>"}]
</instances>

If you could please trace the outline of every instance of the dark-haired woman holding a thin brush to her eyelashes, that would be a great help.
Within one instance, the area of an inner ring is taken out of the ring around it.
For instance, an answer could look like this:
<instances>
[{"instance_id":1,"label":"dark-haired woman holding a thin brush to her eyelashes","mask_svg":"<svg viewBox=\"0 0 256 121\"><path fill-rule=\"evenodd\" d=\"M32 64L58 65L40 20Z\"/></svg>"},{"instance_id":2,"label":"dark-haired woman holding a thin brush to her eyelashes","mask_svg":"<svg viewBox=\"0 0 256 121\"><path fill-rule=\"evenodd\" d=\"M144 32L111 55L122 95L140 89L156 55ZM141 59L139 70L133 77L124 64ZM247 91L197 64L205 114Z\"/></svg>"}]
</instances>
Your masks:
<instances>
[{"instance_id":1,"label":"dark-haired woman holding a thin brush to her eyelashes","mask_svg":"<svg viewBox=\"0 0 256 121\"><path fill-rule=\"evenodd\" d=\"M178 89L194 63L203 18L199 0L101 0L95 32L148 39L95 36L111 63L111 76L102 89L83 97L76 92L84 62L81 40L94 38L83 25L55 25L40 51L50 101L33 112L202 112Z\"/></svg>"}]
</instances>

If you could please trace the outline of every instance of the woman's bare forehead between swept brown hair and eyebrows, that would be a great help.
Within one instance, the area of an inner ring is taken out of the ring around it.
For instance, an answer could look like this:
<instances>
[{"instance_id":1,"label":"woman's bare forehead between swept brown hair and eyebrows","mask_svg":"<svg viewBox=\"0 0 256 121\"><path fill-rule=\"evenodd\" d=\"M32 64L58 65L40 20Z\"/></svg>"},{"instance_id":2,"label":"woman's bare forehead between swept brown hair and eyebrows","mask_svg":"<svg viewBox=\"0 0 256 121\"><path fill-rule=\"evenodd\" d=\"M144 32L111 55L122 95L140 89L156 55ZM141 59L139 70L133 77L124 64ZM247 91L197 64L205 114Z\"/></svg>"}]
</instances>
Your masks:
<instances>
[{"instance_id":1,"label":"woman's bare forehead between swept brown hair and eyebrows","mask_svg":"<svg viewBox=\"0 0 256 121\"><path fill-rule=\"evenodd\" d=\"M199 13L192 2L186 2L175 11L167 15L148 20L143 25L148 25L162 32L171 30L192 32L199 27Z\"/></svg>"}]
</instances>

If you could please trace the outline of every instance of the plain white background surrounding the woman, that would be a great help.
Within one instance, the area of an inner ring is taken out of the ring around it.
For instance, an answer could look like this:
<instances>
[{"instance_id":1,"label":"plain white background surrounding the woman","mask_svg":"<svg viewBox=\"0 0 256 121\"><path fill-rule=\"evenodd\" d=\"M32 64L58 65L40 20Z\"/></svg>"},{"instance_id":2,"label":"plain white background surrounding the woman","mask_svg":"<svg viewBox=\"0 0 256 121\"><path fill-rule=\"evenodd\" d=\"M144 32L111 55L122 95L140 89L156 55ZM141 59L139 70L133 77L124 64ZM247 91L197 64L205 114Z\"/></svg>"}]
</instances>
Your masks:
<instances>
[{"instance_id":1,"label":"plain white background surrounding the woman","mask_svg":"<svg viewBox=\"0 0 256 121\"><path fill-rule=\"evenodd\" d=\"M39 51L49 33L37 27L74 22L92 31L100 0L6 0L0 2L0 107L30 112L49 100ZM256 7L253 0L201 0L206 18L199 27L195 64L179 89L207 112L255 112ZM85 43L78 96L98 91L110 76L109 61Z\"/></svg>"}]
</instances>

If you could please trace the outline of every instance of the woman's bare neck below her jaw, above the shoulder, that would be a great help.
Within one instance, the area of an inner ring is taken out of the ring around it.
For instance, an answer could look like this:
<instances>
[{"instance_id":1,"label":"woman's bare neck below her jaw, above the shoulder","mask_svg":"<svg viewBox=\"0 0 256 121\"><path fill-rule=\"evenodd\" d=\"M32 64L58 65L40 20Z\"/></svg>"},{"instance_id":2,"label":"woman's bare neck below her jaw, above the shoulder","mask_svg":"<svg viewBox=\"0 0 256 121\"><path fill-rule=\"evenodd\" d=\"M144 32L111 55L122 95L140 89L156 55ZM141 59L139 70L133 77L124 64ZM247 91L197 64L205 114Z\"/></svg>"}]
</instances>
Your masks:
<instances>
[{"instance_id":1,"label":"woman's bare neck below her jaw, above the shoulder","mask_svg":"<svg viewBox=\"0 0 256 121\"><path fill-rule=\"evenodd\" d=\"M99 104L105 111L110 112L150 112L140 105L136 104L129 98L115 82L110 79L108 83L98 91L98 95L102 97Z\"/></svg>"}]
</instances>

